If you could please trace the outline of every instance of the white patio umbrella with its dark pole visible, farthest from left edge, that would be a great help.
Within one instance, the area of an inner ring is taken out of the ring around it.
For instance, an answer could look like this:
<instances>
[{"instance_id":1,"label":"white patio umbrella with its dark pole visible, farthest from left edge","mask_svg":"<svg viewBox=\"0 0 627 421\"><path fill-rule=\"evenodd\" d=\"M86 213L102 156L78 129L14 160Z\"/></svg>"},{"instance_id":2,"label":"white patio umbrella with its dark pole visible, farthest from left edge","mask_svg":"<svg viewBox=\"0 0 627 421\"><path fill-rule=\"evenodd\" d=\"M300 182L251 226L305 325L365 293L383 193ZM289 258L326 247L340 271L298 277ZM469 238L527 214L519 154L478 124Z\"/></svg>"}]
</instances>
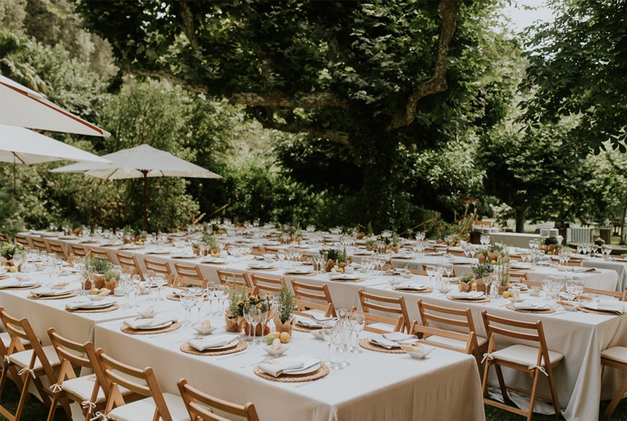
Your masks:
<instances>
[{"instance_id":1,"label":"white patio umbrella with its dark pole visible, farthest from left edge","mask_svg":"<svg viewBox=\"0 0 627 421\"><path fill-rule=\"evenodd\" d=\"M112 164L78 162L52 169L52 172L83 173L87 176L115 180L144 178L144 229L148 230L148 177L222 178L208 169L187 162L147 144L122 149L101 158Z\"/></svg>"}]
</instances>

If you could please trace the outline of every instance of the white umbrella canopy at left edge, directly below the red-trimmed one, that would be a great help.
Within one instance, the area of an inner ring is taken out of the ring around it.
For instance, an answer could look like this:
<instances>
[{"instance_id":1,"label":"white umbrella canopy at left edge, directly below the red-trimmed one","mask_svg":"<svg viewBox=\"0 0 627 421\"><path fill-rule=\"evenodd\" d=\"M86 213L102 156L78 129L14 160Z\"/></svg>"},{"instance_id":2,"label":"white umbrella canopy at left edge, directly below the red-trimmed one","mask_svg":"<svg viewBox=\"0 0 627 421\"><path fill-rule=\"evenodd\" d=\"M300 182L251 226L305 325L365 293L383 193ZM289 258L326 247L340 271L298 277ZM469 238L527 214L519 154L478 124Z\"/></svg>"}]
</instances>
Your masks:
<instances>
[{"instance_id":1,"label":"white umbrella canopy at left edge, directly below the red-trimmed one","mask_svg":"<svg viewBox=\"0 0 627 421\"><path fill-rule=\"evenodd\" d=\"M0 162L40 164L58 160L111 162L32 130L0 124Z\"/></svg>"}]
</instances>

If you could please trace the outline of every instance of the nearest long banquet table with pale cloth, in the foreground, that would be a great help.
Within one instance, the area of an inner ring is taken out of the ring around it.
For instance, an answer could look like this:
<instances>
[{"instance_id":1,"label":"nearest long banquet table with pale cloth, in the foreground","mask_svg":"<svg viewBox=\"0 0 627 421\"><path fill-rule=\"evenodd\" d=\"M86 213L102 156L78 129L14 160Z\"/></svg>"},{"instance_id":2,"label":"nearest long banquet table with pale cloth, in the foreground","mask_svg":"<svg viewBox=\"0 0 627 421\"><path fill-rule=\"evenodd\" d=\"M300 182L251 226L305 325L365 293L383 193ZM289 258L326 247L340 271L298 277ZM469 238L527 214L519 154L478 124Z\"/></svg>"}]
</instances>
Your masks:
<instances>
[{"instance_id":1,"label":"nearest long banquet table with pale cloth, in the foreground","mask_svg":"<svg viewBox=\"0 0 627 421\"><path fill-rule=\"evenodd\" d=\"M28 276L47 282L43 273ZM77 286L73 275L64 279L71 282L70 286ZM249 346L229 358L189 355L180 351L180 344L195 335L191 328L171 334L128 335L120 330L122 321L137 316L137 308L71 313L65 310L65 304L76 298L31 300L26 298L29 291L0 290L0 305L13 316L28 317L45 344L49 343L46 331L51 326L77 342L91 340L127 364L153 367L165 392L178 393L176 381L185 377L197 388L222 399L241 404L254 401L261 419L484 419L477 362L470 355L436 349L425 360L414 360L406 354L364 350L348 358L349 367L332 371L318 381L277 383L253 372L254 365L264 359L261 346ZM163 296L169 291L162 291ZM118 297L108 299L123 301ZM184 316L176 301L147 302L146 296L139 296L139 304L140 308L155 305L160 316ZM203 307L203 313L207 311L208 307ZM224 319L211 320L224 332ZM363 337L368 335L362 332ZM324 358L327 354L325 343L309 333L293 332L287 346L293 356Z\"/></svg>"}]
</instances>

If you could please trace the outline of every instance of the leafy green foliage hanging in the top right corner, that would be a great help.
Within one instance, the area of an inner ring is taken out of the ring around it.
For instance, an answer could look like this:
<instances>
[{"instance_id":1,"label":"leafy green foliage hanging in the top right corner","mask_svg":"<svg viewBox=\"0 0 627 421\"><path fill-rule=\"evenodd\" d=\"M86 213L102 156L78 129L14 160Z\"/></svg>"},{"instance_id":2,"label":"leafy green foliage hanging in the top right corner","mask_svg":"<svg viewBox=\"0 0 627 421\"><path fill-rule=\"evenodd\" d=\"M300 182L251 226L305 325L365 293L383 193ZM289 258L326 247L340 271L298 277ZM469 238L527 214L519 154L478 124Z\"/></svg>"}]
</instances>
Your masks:
<instances>
[{"instance_id":1,"label":"leafy green foliage hanging in the top right corner","mask_svg":"<svg viewBox=\"0 0 627 421\"><path fill-rule=\"evenodd\" d=\"M552 0L555 20L527 38L529 68L523 85L536 94L525 103L533 125L576 115L569 148L585 157L605 146L627 153L627 3ZM606 143L608 142L608 143Z\"/></svg>"}]
</instances>

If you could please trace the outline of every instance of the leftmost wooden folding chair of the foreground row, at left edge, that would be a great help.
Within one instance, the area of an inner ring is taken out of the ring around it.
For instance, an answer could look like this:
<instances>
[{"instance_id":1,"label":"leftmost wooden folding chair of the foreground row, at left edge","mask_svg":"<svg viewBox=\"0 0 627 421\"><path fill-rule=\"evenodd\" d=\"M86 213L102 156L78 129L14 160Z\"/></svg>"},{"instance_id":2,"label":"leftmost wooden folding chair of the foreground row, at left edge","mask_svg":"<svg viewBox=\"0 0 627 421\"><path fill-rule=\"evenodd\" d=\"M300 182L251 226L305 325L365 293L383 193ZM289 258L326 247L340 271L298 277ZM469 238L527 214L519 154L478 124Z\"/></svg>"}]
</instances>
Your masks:
<instances>
[{"instance_id":1,"label":"leftmost wooden folding chair of the foreground row, at left edge","mask_svg":"<svg viewBox=\"0 0 627 421\"><path fill-rule=\"evenodd\" d=\"M0 307L0 320L11 337L7 350L8 355L6 355L2 374L0 375L0 394L4 390L6 378L9 372L11 372L11 367L19 369L17 375L22 376L22 390L15 414L10 413L8 408L3 405L0 405L0 413L10 421L17 421L22 417L24 404L26 404L26 399L29 398L31 381L35 384L43 404L47 407L51 405L50 397L54 394L51 390L44 387L41 378L47 378L50 384L56 383L56 372L61 368L61 362L59 361L59 356L56 355L54 346L41 346L28 319L16 319ZM22 341L28 341L31 349L25 349ZM72 418L68 399L61 398L59 401L61 401L68 418Z\"/></svg>"}]
</instances>

